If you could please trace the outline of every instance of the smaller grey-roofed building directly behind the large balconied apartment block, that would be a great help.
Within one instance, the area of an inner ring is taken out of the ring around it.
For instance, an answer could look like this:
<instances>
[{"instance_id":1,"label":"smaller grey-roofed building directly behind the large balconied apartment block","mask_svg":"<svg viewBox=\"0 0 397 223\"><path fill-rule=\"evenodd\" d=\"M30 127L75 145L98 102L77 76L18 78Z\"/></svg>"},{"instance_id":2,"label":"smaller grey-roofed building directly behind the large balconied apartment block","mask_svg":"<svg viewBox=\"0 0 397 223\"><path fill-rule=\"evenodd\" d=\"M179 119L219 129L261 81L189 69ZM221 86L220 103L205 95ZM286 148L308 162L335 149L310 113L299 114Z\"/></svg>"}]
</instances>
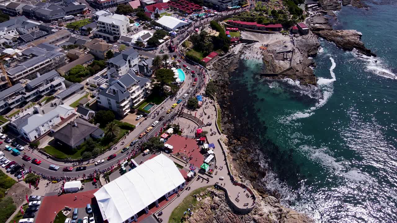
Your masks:
<instances>
[{"instance_id":1,"label":"smaller grey-roofed building directly behind the large balconied apartment block","mask_svg":"<svg viewBox=\"0 0 397 223\"><path fill-rule=\"evenodd\" d=\"M138 52L133 48L122 53L116 52L113 58L106 61L106 67L116 69L117 73L124 75L127 71L137 65L139 60Z\"/></svg>"}]
</instances>

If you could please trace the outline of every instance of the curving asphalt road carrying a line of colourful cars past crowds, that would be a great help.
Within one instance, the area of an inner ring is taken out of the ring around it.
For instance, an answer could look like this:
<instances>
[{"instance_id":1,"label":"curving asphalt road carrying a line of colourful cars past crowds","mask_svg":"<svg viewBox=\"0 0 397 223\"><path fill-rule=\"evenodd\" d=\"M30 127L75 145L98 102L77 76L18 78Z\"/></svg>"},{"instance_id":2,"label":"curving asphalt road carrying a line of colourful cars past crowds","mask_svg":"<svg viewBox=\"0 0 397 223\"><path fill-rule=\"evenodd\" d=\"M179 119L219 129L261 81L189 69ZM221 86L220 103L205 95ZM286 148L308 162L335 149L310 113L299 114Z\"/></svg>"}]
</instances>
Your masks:
<instances>
[{"instance_id":1,"label":"curving asphalt road carrying a line of colourful cars past crowds","mask_svg":"<svg viewBox=\"0 0 397 223\"><path fill-rule=\"evenodd\" d=\"M142 52L142 53L148 54L147 52ZM174 53L172 53L172 54L174 54ZM143 54L143 55L144 55L144 54ZM152 57L152 56L153 56L153 55L151 55L151 57ZM188 64L188 63L186 63L185 61L180 62L180 64L181 64L181 65L186 64L188 67L191 67L191 70L194 70L196 73L198 73L198 69L196 69L194 65ZM189 73L187 74L186 80L189 80L188 77L191 76L191 70L189 70ZM198 81L197 81L197 85L196 85L195 87L191 87L191 88L193 88L192 93L194 92L194 90L197 88L197 86L198 86L200 83L204 83L204 77L203 77L203 75L195 75L195 76L198 78ZM190 85L191 85L191 83L190 83L189 81L186 81L185 85L186 85L186 84L190 84ZM189 89L189 88L188 88L188 89ZM168 120L168 119L170 118L170 116L173 115L173 114L175 113L175 110L177 110L177 109L179 108L179 106L181 106L181 104L183 104L185 101L187 101L187 100L189 99L189 97L191 96L192 93L188 93L188 92L185 90L184 92L182 92L182 93L177 97L176 100L173 100L174 103L176 103L177 100L179 100L179 99L181 99L182 102L181 102L176 108L174 108L173 111L172 111L170 114L167 114L167 113L166 113L166 110L168 110L168 109L170 109L170 108L169 108L169 107L164 107L163 109L160 109L160 110L159 110L159 111L160 111L159 115L156 115L156 116L154 117L153 114L152 114L151 117L148 117L147 120L143 121L143 123L142 123L141 125L145 125L145 126L146 126L146 127L145 127L145 130L146 130L148 127L152 126L152 123L153 123L154 121L157 121L157 120L159 119L159 117L161 117L161 116L164 115L164 120L163 120L163 121L160 121L160 122L150 131L150 133L149 133L148 135L149 135L149 136L150 136L150 135L154 135L154 133L160 131L160 128L163 126L164 121ZM186 98L183 98L183 95L184 95L184 94L189 94L189 96L187 96ZM170 100L170 99L169 99L169 100ZM144 130L144 131L145 131L145 130ZM142 131L142 132L144 132L144 131ZM134 134L134 135L135 135L134 138L138 138L138 136L139 136L142 132L133 131L133 132L131 132L130 134ZM149 136L148 136L148 137L149 137ZM10 136L10 138L13 139L14 137ZM141 141L141 140L140 140L140 141ZM26 143L25 143L25 144L22 143L21 140L18 140L17 142L18 142L19 144L23 145L25 148L28 147L28 146L26 145ZM110 167L110 166L112 166L112 165L116 165L117 162L118 162L118 160L123 160L124 158L126 158L126 157L129 156L129 154L127 154L127 153L118 153L117 156L116 156L116 158L114 158L114 159L112 159L112 160L105 160L105 162L102 163L102 164L100 164L100 165L97 165L97 166L95 166L95 165L88 165L88 166L87 166L87 169L86 169L85 171L76 172L76 171L75 171L76 168L74 168L72 172L63 172L63 171L62 171L62 168L65 167L65 166L70 166L70 163L65 163L65 165L63 165L63 166L62 166L62 165L58 165L58 166L60 166L60 169L58 169L58 171L53 171L53 170L48 169L48 167L52 164L53 161L52 161L51 159L49 159L49 158L48 158L48 159L45 159L45 160L41 159L40 157L38 157L38 156L36 155L36 154L39 154L40 156L43 156L43 155L40 154L39 152L33 151L33 153L31 153L31 152L29 152L29 151L26 151L26 155L28 155L29 157L31 157L32 160L36 158L36 159L39 159L39 160L42 161L42 163L41 163L40 165L35 165L34 163L31 162L31 160L30 160L30 161L22 160L22 156L24 155L23 151L21 151L21 154L20 154L19 156L14 156L14 155L11 154L11 152L8 152L8 151L5 151L5 150L4 150L4 146L5 146L5 145L9 145L9 146L11 146L11 145L8 144L8 143L6 143L6 142L3 142L3 144L1 145L1 147L3 148L3 149L2 149L2 152L4 152L5 156L6 156L9 160L16 161L16 162L17 162L18 164L20 164L20 165L25 164L25 169L29 169L29 167L32 167L32 170L34 170L34 171L37 171L37 172L42 173L42 174L45 174L45 175L47 175L47 176L53 176L53 177L62 177L62 176L67 176L67 177L78 177L78 176L82 176L83 173L85 173L86 175L89 175L89 174L93 173L93 171L94 171L95 169L97 169L97 168L100 169L100 170L102 170L102 169L107 169L108 167ZM125 146L129 146L129 145L125 144ZM12 147L12 148L15 148L14 146L11 146L11 147ZM118 149L121 149L121 147L119 147ZM114 150L114 151L117 152L118 150ZM137 160L139 160L139 158L137 158ZM95 160L95 161L96 161L96 160ZM94 161L90 161L90 162L93 163ZM87 163L84 163L84 164L87 164ZM1 168L1 167L0 167L0 168Z\"/></svg>"}]
</instances>

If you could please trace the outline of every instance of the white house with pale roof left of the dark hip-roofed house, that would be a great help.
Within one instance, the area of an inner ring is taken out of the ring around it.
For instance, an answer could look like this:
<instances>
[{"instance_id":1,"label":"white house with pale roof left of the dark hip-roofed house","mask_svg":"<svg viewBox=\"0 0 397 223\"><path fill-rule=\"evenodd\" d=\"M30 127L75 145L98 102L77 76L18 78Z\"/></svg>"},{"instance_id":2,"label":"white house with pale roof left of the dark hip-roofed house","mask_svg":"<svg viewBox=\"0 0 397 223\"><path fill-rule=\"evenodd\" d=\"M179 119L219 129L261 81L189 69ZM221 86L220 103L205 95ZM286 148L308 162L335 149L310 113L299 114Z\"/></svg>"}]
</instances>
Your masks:
<instances>
[{"instance_id":1,"label":"white house with pale roof left of the dark hip-roofed house","mask_svg":"<svg viewBox=\"0 0 397 223\"><path fill-rule=\"evenodd\" d=\"M74 108L66 105L57 106L46 113L40 106L36 105L33 108L35 112L27 113L11 121L8 125L14 132L19 133L29 141L34 141L47 133L52 127L60 123L62 119L75 112Z\"/></svg>"}]
</instances>

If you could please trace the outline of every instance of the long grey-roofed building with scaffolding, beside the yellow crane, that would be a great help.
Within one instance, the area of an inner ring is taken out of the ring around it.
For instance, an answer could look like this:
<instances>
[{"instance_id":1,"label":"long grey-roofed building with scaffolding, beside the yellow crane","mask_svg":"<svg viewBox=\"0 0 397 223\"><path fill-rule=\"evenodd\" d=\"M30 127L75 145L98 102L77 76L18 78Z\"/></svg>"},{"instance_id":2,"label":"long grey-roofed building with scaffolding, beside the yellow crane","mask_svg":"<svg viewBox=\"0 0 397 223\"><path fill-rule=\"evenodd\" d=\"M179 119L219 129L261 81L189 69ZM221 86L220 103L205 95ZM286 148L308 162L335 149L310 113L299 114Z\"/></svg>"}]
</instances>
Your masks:
<instances>
[{"instance_id":1,"label":"long grey-roofed building with scaffolding, beside the yellow crane","mask_svg":"<svg viewBox=\"0 0 397 223\"><path fill-rule=\"evenodd\" d=\"M20 52L15 60L6 63L8 78L12 83L33 80L37 73L44 74L67 63L61 48L51 44L39 44Z\"/></svg>"}]
</instances>

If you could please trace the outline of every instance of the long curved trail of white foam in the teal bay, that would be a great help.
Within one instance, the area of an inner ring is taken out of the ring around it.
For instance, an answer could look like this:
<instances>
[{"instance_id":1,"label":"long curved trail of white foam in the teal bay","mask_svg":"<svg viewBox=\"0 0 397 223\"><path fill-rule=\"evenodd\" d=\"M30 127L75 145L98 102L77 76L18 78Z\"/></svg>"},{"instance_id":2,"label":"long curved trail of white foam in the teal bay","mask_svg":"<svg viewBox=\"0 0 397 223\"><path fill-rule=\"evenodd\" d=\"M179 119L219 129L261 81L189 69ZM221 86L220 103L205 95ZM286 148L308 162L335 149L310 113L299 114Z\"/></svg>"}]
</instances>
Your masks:
<instances>
[{"instance_id":1,"label":"long curved trail of white foam in the teal bay","mask_svg":"<svg viewBox=\"0 0 397 223\"><path fill-rule=\"evenodd\" d=\"M292 120L295 119L301 119L301 118L307 118L310 117L311 115L314 114L314 110L317 110L319 108L321 108L322 106L324 106L328 99L331 98L332 94L333 94L333 85L332 83L334 81L336 81L336 77L335 77L335 73L333 73L333 69L335 69L336 67L336 63L333 60L333 58L330 57L331 60L331 68L330 68L330 73L331 73L331 79L326 79L326 78L320 78L317 81L317 84L320 85L320 87L322 87L322 97L318 100L318 102L311 108L304 110L303 112L295 112L292 115L289 116L283 116L281 117L280 122L281 123L289 123ZM286 80L286 79L285 79ZM289 81L290 80L290 81ZM299 85L299 81L297 83L297 81L293 81L291 79L287 80L287 83L290 83L291 85Z\"/></svg>"}]
</instances>

